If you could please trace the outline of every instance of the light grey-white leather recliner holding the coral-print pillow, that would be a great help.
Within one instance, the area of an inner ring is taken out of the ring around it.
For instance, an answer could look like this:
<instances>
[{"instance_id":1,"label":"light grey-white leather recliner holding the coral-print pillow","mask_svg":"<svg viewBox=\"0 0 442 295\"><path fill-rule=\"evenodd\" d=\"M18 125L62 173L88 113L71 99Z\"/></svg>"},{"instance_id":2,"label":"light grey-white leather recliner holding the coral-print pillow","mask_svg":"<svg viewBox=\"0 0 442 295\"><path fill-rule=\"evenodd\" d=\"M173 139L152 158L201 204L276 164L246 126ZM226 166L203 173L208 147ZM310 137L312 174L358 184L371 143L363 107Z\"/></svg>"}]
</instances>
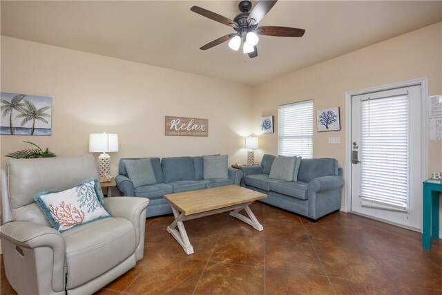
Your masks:
<instances>
[{"instance_id":1,"label":"light grey-white leather recliner holding the coral-print pillow","mask_svg":"<svg viewBox=\"0 0 442 295\"><path fill-rule=\"evenodd\" d=\"M104 199L112 214L60 233L34 201L98 178L93 155L11 159L1 171L1 245L18 294L92 294L143 258L146 198Z\"/></svg>"}]
</instances>

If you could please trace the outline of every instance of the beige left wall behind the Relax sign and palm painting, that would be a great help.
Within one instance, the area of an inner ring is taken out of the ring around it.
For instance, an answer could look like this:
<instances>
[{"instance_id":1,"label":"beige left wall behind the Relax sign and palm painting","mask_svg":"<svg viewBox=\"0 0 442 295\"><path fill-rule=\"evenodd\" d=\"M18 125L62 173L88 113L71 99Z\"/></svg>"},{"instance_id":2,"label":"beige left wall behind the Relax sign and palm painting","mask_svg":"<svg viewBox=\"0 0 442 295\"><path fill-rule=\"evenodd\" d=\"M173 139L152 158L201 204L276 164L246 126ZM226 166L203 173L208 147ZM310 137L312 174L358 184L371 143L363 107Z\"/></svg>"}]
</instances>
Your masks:
<instances>
[{"instance_id":1,"label":"beige left wall behind the Relax sign and palm painting","mask_svg":"<svg viewBox=\"0 0 442 295\"><path fill-rule=\"evenodd\" d=\"M148 52L146 52L148 54ZM1 37L1 91L52 97L52 136L1 135L6 153L31 140L57 155L88 153L89 133L118 133L119 158L222 153L244 162L252 88L21 39ZM164 135L164 116L209 119L209 137ZM95 154L98 156L98 154Z\"/></svg>"}]
</instances>

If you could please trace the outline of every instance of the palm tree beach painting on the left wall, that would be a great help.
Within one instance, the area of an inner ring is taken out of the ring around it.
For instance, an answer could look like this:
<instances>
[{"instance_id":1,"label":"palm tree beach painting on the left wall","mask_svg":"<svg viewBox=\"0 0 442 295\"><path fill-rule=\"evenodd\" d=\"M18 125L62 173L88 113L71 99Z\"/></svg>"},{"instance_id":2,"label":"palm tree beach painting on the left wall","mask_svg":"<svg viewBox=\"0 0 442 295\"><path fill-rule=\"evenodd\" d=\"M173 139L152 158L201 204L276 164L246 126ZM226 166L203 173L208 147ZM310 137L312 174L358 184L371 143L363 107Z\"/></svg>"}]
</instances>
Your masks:
<instances>
[{"instance_id":1,"label":"palm tree beach painting on the left wall","mask_svg":"<svg viewBox=\"0 0 442 295\"><path fill-rule=\"evenodd\" d=\"M0 93L0 134L51 135L52 97Z\"/></svg>"}]
</instances>

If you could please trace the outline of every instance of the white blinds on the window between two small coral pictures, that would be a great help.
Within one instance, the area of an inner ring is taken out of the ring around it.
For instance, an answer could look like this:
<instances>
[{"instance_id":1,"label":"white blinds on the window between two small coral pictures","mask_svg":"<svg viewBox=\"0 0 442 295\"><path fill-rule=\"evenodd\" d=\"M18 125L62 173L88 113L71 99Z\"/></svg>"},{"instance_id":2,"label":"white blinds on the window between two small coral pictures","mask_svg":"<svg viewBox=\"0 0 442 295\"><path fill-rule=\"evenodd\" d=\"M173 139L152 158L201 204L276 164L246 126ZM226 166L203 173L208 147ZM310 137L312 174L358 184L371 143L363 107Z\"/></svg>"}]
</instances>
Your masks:
<instances>
[{"instance_id":1,"label":"white blinds on the window between two small coral pictures","mask_svg":"<svg viewBox=\"0 0 442 295\"><path fill-rule=\"evenodd\" d=\"M313 158L313 100L279 106L278 154Z\"/></svg>"}]
</instances>

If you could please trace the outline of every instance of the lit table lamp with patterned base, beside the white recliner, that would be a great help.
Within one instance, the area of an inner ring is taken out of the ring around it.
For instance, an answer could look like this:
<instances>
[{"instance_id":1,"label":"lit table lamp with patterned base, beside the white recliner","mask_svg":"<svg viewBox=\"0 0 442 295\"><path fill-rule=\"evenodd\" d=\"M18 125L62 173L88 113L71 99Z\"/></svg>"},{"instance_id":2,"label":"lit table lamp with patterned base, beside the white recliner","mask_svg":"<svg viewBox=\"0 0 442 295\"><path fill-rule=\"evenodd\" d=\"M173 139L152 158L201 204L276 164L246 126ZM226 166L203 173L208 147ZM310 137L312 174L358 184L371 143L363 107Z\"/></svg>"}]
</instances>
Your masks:
<instances>
[{"instance_id":1,"label":"lit table lamp with patterned base, beside the white recliner","mask_svg":"<svg viewBox=\"0 0 442 295\"><path fill-rule=\"evenodd\" d=\"M91 133L89 135L89 152L102 153L98 157L99 181L111 181L111 156L107 153L118 151L118 134Z\"/></svg>"}]
</instances>

